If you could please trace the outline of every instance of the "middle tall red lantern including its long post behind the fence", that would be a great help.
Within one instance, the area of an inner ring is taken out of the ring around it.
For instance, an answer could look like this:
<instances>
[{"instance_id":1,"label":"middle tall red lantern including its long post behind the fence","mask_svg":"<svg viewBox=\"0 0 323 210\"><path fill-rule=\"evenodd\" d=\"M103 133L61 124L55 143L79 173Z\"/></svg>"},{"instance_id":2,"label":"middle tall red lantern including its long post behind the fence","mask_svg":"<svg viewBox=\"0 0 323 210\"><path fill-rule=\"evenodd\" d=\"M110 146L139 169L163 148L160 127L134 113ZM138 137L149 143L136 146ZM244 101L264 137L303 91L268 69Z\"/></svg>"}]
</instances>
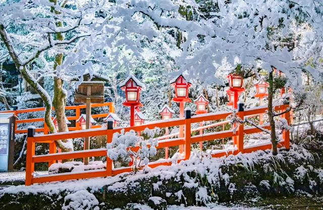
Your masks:
<instances>
[{"instance_id":1,"label":"middle tall red lantern including its long post behind the fence","mask_svg":"<svg viewBox=\"0 0 323 210\"><path fill-rule=\"evenodd\" d=\"M188 88L192 84L190 82L187 82L182 74L173 79L170 83L175 88L175 98L173 98L173 101L180 104L180 118L184 118L184 105L185 102L191 101L191 99L188 97ZM184 125L180 125L179 137L184 138ZM180 145L180 153L183 152L184 145Z\"/></svg>"}]
</instances>

